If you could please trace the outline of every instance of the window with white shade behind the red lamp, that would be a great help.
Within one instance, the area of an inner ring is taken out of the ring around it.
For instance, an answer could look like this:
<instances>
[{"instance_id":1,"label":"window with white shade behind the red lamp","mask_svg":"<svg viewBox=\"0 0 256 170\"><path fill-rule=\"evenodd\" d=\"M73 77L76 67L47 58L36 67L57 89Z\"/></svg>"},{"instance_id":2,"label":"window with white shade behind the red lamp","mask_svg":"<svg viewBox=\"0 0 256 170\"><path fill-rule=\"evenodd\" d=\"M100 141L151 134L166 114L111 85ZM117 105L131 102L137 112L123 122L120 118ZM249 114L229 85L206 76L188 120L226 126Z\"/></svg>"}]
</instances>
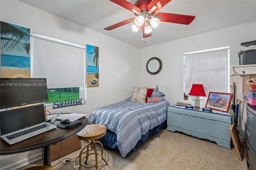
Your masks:
<instances>
[{"instance_id":1,"label":"window with white shade behind the red lamp","mask_svg":"<svg viewBox=\"0 0 256 170\"><path fill-rule=\"evenodd\" d=\"M203 84L206 101L209 92L229 92L229 47L214 48L184 54L184 100L192 84Z\"/></svg>"}]
</instances>

